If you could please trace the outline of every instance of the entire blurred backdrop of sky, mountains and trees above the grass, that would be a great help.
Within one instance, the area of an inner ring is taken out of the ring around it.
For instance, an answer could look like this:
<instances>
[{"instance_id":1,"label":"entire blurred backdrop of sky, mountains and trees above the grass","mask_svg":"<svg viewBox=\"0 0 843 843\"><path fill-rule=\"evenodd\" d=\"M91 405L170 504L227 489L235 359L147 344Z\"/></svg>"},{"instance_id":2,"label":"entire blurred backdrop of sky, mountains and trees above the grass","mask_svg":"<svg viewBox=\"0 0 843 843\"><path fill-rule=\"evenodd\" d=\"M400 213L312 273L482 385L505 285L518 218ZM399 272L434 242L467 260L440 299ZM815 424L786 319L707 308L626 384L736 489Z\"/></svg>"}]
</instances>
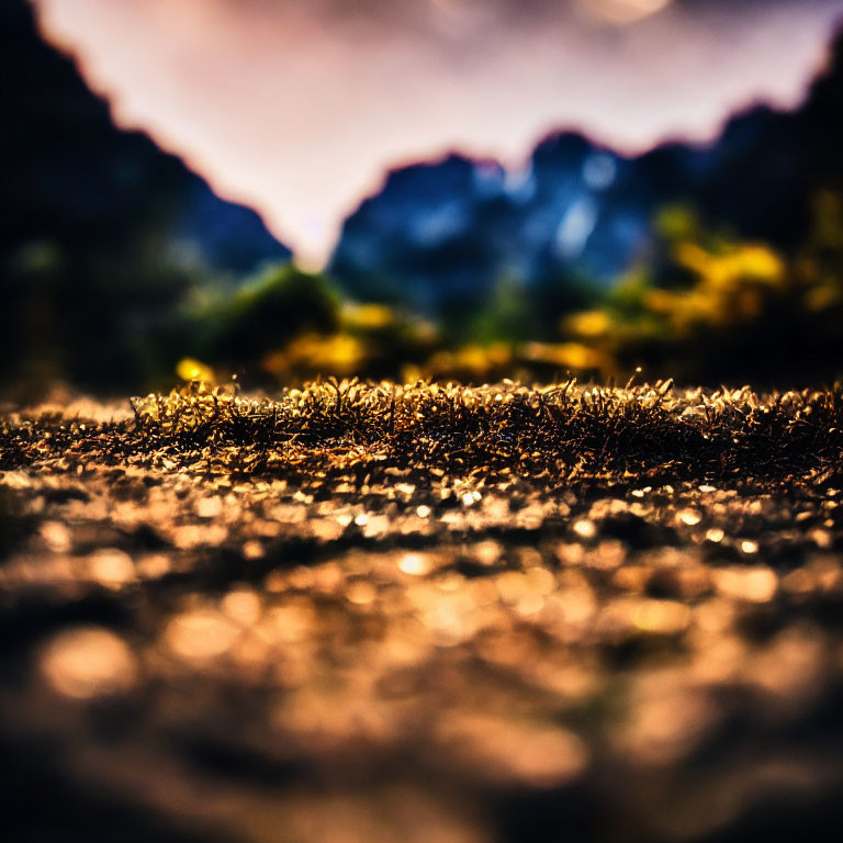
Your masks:
<instances>
[{"instance_id":1,"label":"entire blurred backdrop of sky, mountains and trees above the grass","mask_svg":"<svg viewBox=\"0 0 843 843\"><path fill-rule=\"evenodd\" d=\"M843 3L0 9L9 400L843 374Z\"/></svg>"}]
</instances>

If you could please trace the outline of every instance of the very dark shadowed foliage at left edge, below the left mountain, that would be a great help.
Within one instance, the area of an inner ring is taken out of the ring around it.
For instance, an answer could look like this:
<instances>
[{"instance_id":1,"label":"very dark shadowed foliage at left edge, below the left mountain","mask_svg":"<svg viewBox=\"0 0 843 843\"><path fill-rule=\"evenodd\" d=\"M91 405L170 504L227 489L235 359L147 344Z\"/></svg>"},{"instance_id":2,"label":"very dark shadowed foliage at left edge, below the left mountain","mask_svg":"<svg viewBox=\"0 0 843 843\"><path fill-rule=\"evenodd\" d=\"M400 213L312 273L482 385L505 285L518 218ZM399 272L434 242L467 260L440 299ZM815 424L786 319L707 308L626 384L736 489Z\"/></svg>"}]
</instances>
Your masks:
<instances>
[{"instance_id":1,"label":"very dark shadowed foliage at left edge, below the left mountain","mask_svg":"<svg viewBox=\"0 0 843 843\"><path fill-rule=\"evenodd\" d=\"M0 387L31 400L56 381L148 383L171 370L184 341L180 302L201 282L156 237L95 255L45 238L0 256Z\"/></svg>"}]
</instances>

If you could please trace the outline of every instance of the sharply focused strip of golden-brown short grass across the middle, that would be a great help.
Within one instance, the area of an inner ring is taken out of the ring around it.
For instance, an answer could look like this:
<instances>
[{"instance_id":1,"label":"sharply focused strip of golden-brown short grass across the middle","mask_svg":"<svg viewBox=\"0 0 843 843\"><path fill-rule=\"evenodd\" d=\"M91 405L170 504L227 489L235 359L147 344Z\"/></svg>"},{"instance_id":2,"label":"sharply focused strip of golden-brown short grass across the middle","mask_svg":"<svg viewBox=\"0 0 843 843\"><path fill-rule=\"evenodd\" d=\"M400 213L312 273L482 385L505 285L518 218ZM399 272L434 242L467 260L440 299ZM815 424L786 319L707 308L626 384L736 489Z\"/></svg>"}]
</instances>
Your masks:
<instances>
[{"instance_id":1,"label":"sharply focused strip of golden-brown short grass across the middle","mask_svg":"<svg viewBox=\"0 0 843 843\"><path fill-rule=\"evenodd\" d=\"M134 419L12 414L0 422L0 469L123 459L213 473L370 472L391 467L460 475L840 476L843 385L756 394L574 380L546 387L317 381L277 398L189 383L132 398Z\"/></svg>"}]
</instances>

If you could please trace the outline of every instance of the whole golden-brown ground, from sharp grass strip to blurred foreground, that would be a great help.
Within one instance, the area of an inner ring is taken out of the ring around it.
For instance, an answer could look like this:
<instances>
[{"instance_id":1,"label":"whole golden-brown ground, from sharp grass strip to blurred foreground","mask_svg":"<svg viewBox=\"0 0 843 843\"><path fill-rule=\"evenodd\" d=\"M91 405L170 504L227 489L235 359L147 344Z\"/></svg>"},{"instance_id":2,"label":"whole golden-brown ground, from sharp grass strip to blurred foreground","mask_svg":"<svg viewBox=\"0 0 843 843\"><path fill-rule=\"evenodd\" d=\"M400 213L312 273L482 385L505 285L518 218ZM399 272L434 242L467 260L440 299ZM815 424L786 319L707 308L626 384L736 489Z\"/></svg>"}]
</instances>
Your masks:
<instances>
[{"instance_id":1,"label":"whole golden-brown ground, from sharp grass strip to blurred foreground","mask_svg":"<svg viewBox=\"0 0 843 843\"><path fill-rule=\"evenodd\" d=\"M0 420L15 841L838 840L843 400Z\"/></svg>"}]
</instances>

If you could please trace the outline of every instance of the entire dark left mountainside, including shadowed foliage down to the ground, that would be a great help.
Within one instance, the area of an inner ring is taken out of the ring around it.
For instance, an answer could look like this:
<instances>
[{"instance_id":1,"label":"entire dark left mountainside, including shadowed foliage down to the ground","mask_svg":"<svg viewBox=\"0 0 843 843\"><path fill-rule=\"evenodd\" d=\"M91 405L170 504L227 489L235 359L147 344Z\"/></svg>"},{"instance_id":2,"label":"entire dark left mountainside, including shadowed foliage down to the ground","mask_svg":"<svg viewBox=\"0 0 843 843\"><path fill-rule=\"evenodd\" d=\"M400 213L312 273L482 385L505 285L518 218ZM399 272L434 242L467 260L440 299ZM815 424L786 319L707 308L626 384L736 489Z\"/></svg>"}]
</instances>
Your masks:
<instances>
[{"instance_id":1,"label":"entire dark left mountainside, including shadowed foliage down to the ground","mask_svg":"<svg viewBox=\"0 0 843 843\"><path fill-rule=\"evenodd\" d=\"M289 259L254 211L117 128L25 0L0 0L0 381L135 383L192 284Z\"/></svg>"}]
</instances>

